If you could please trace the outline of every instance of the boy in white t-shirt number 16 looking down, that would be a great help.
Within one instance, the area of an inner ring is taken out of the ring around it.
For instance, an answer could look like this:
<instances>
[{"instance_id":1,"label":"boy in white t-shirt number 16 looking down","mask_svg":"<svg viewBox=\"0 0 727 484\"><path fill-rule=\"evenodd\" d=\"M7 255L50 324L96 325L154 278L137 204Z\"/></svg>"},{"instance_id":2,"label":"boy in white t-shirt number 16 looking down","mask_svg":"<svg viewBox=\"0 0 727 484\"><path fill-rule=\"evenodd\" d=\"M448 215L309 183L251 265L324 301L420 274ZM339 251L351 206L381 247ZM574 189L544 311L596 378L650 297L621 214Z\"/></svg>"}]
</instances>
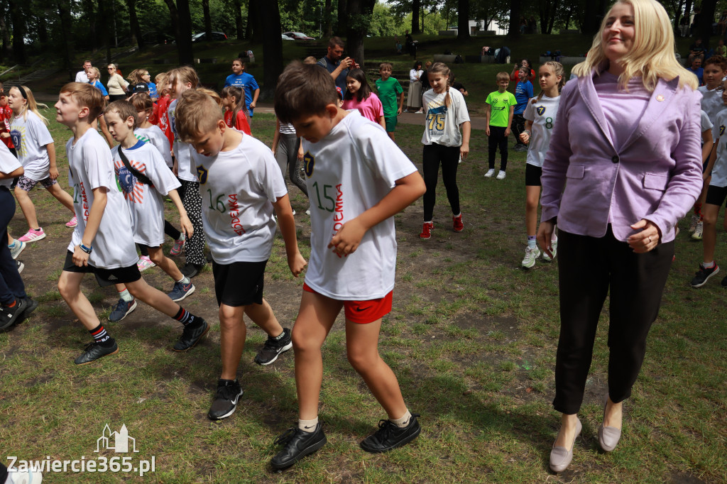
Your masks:
<instances>
[{"instance_id":1,"label":"boy in white t-shirt number 16 looking down","mask_svg":"<svg viewBox=\"0 0 727 484\"><path fill-rule=\"evenodd\" d=\"M270 148L230 128L220 106L203 92L183 93L176 114L177 134L193 147L199 184L210 201L203 204L202 217L220 305L222 375L207 416L218 420L233 414L243 393L237 370L245 345L244 315L268 334L255 363L269 365L293 346L290 330L278 323L262 298L276 232L273 209L293 275L297 277L306 262L298 250L288 191Z\"/></svg>"}]
</instances>

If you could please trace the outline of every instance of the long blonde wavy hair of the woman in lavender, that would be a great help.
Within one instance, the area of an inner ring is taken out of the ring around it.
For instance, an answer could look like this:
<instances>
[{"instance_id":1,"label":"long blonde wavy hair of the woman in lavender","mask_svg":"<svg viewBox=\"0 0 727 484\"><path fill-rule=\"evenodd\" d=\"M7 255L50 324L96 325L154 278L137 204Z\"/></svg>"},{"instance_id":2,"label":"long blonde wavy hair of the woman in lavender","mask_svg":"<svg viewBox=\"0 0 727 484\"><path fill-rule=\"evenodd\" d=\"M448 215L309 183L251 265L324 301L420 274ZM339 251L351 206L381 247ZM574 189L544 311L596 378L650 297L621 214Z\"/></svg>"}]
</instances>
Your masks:
<instances>
[{"instance_id":1,"label":"long blonde wavy hair of the woman in lavender","mask_svg":"<svg viewBox=\"0 0 727 484\"><path fill-rule=\"evenodd\" d=\"M615 4L630 4L634 10L635 36L631 52L621 58L624 71L619 76L619 86L627 89L630 78L641 76L643 86L651 92L656 88L659 78L671 81L678 77L679 87L696 89L699 85L696 76L683 68L674 55L674 33L662 4L655 0L619 0ZM576 76L590 76L594 68L603 68L608 64L602 39L609 14L603 17L586 60L574 66L573 73Z\"/></svg>"}]
</instances>

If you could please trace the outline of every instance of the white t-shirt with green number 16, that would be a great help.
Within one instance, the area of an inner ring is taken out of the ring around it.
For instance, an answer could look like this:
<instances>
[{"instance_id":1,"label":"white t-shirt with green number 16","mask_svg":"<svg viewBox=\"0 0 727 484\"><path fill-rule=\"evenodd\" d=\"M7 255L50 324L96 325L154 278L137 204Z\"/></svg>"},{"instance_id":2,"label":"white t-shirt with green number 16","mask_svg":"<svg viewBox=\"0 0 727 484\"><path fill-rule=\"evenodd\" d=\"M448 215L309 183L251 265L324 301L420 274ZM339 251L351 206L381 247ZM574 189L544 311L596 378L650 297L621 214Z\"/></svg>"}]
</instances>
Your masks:
<instances>
[{"instance_id":1,"label":"white t-shirt with green number 16","mask_svg":"<svg viewBox=\"0 0 727 484\"><path fill-rule=\"evenodd\" d=\"M233 150L192 154L204 235L217 264L270 259L276 232L273 202L288 193L270 148L239 133L242 141Z\"/></svg>"}]
</instances>

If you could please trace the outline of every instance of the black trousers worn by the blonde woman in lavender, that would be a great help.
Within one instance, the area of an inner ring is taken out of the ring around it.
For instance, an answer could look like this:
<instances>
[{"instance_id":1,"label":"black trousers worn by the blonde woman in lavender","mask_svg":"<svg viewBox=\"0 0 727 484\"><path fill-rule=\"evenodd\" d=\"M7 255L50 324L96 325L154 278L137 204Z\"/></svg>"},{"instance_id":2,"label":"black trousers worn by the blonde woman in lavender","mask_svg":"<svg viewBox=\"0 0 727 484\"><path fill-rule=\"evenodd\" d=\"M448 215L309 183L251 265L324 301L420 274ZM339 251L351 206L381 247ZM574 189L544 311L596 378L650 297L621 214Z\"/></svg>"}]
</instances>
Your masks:
<instances>
[{"instance_id":1,"label":"black trousers worn by the blonde woman in lavender","mask_svg":"<svg viewBox=\"0 0 727 484\"><path fill-rule=\"evenodd\" d=\"M610 225L601 238L558 230L561 336L555 359L556 411L579 411L598 317L609 292L608 395L614 403L631 395L673 255L673 241L635 254L614 238Z\"/></svg>"}]
</instances>

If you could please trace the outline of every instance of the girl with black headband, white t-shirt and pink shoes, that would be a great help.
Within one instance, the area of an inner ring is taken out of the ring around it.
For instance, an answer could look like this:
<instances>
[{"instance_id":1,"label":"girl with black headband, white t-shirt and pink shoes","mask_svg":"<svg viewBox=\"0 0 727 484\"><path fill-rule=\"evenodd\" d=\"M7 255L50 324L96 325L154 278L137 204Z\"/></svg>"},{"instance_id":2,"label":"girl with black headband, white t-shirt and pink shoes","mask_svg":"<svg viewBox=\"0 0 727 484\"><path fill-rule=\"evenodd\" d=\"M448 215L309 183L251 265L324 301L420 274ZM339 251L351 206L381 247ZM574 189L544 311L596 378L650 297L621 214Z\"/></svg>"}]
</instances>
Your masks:
<instances>
[{"instance_id":1,"label":"girl with black headband, white t-shirt and pink shoes","mask_svg":"<svg viewBox=\"0 0 727 484\"><path fill-rule=\"evenodd\" d=\"M48 120L41 116L33 93L25 86L13 86L8 96L12 109L10 136L17 150L17 158L25 173L15 186L15 198L28 222L28 233L19 237L21 242L39 241L46 234L38 225L36 207L28 195L38 183L48 190L60 203L73 214L66 227L76 227L73 211L73 198L58 184L58 169L55 166L55 144L48 131Z\"/></svg>"}]
</instances>

